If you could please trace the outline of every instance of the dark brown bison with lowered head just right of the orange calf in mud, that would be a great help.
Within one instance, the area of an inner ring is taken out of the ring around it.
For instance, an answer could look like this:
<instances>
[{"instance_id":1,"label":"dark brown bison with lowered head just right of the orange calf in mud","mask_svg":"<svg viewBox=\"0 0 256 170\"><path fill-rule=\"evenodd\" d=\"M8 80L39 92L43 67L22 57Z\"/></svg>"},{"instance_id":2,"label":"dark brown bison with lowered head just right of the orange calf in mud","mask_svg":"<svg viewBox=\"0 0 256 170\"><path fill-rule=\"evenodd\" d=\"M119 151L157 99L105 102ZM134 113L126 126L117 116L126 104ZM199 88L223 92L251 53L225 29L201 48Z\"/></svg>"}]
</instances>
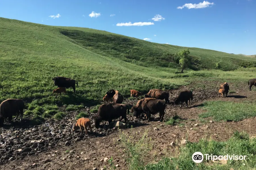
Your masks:
<instances>
[{"instance_id":1,"label":"dark brown bison with lowered head just right of the orange calf in mud","mask_svg":"<svg viewBox=\"0 0 256 170\"><path fill-rule=\"evenodd\" d=\"M124 104L119 103L105 103L100 105L98 109L98 113L94 116L92 116L92 119L94 120L94 125L96 128L100 126L100 122L102 120L108 121L108 124L112 122L113 119L119 118L121 116L121 119L119 120L125 120L125 123L127 121L126 118L126 112L129 113L129 107Z\"/></svg>"}]
</instances>

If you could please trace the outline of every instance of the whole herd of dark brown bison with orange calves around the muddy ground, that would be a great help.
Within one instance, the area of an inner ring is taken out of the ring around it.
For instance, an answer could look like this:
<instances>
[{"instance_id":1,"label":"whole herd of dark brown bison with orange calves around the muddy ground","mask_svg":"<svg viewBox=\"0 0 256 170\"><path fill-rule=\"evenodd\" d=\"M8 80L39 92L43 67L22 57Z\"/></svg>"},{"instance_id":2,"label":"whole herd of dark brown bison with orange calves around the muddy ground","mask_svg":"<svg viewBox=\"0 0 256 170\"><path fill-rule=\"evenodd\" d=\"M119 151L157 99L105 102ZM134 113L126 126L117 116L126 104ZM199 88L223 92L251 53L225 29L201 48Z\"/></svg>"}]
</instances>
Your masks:
<instances>
[{"instance_id":1,"label":"whole herd of dark brown bison with orange calves around the muddy ground","mask_svg":"<svg viewBox=\"0 0 256 170\"><path fill-rule=\"evenodd\" d=\"M58 86L57 89L53 90L53 94L56 93L60 94L66 93L66 88L72 87L75 93L75 84L78 86L78 82L76 80L66 78L66 77L54 77L52 78L54 81L55 86ZM251 91L251 87L254 85L256 86L256 78L250 79L248 81L249 90ZM229 85L227 82L222 83L219 88L219 97L224 97L226 94L226 97L228 95L229 91ZM139 97L143 95L142 93L136 91L136 90L130 90L131 97ZM151 114L156 114L159 112L160 116L159 119L164 118L164 111L166 104L169 103L169 93L160 90L160 89L151 89L147 94L144 95L145 98L140 99L135 106L132 106L131 112L133 113L133 116L136 118L139 118L140 115L143 113L146 116L146 119L150 121ZM106 92L106 95L103 97L104 104L100 105L98 109L98 113L94 116L92 116L92 119L94 120L94 126L96 128L99 128L100 122L102 121L108 121L110 124L113 119L117 119L121 117L119 120L125 120L125 123L127 121L126 115L129 113L129 107L123 103L123 95L121 95L118 90L111 89L108 92ZM164 101L165 100L165 101ZM181 106L183 102L187 103L189 101L190 105L193 105L193 93L192 91L185 90L179 92L179 95L174 98L174 104L178 105L181 103ZM20 114L20 121L22 120L23 116L23 109L24 109L24 101L22 99L7 99L3 101L0 105L0 126L4 124L4 121L11 122L13 116L16 115L16 120ZM180 107L181 107L180 106ZM91 122L87 118L80 118L77 120L77 123L73 126L73 131L80 128L81 132L83 129L85 129L87 133L87 127L89 127L90 130L92 130Z\"/></svg>"}]
</instances>

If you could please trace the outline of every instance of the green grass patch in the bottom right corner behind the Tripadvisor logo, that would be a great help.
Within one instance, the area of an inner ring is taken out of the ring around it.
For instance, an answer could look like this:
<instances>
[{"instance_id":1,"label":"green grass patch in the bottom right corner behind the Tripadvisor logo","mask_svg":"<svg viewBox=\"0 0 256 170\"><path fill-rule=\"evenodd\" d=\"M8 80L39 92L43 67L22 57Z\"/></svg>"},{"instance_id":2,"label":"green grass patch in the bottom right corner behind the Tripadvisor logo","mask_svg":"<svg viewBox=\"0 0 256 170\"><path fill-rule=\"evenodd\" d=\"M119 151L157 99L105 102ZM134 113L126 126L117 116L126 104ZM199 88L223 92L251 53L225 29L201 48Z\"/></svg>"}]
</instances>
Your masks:
<instances>
[{"instance_id":1,"label":"green grass patch in the bottom right corner behind the Tripadvisor logo","mask_svg":"<svg viewBox=\"0 0 256 170\"><path fill-rule=\"evenodd\" d=\"M242 137L241 137L242 136ZM188 142L181 146L177 157L163 158L158 163L137 164L131 162L129 169L136 170L169 170L169 169L193 169L193 170L230 170L230 169L255 169L256 168L256 138L249 139L248 134L235 132L228 141L217 142L211 139L200 139L197 143ZM209 155L245 155L246 160L227 160L227 164L213 163L204 160L195 163L192 155L195 152ZM136 155L137 156L137 155ZM129 154L129 157L133 157ZM131 159L131 158L130 158ZM133 158L135 159L135 158ZM140 157L140 159L143 159Z\"/></svg>"}]
</instances>

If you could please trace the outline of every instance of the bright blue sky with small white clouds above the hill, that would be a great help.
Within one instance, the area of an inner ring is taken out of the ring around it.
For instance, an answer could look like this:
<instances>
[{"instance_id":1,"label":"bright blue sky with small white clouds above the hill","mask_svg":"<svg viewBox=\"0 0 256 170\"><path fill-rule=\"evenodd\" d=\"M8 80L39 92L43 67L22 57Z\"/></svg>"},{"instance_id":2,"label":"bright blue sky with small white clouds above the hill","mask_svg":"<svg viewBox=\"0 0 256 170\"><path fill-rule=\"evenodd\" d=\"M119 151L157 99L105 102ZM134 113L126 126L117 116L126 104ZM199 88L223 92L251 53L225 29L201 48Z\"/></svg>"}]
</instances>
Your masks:
<instances>
[{"instance_id":1,"label":"bright blue sky with small white clouds above the hill","mask_svg":"<svg viewBox=\"0 0 256 170\"><path fill-rule=\"evenodd\" d=\"M254 55L255 8L256 0L0 0L0 17Z\"/></svg>"}]
</instances>

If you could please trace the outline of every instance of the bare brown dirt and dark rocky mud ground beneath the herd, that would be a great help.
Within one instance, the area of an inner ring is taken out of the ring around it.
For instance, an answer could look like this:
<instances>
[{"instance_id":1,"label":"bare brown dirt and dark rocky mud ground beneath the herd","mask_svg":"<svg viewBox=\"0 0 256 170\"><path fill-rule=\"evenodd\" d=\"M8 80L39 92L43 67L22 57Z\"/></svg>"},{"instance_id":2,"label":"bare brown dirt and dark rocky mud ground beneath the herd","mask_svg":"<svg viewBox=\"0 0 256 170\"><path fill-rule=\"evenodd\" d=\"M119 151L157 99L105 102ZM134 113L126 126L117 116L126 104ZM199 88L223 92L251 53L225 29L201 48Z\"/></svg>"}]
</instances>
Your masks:
<instances>
[{"instance_id":1,"label":"bare brown dirt and dark rocky mud ground beneath the herd","mask_svg":"<svg viewBox=\"0 0 256 170\"><path fill-rule=\"evenodd\" d=\"M201 138L211 138L216 141L229 139L233 132L246 131L250 136L256 134L256 117L245 119L239 122L210 122L210 118L200 121L198 114L203 110L198 107L204 101L255 101L255 91L249 91L245 85L232 86L230 84L229 97L218 98L218 86L220 82L211 85L214 88L203 90L195 88L193 91L193 105L180 109L177 105L166 107L165 119L172 116L179 116L182 121L177 125L165 125L159 122L158 115L154 115L154 120L148 122L145 119L135 119L128 116L128 127L126 129L113 129L108 127L108 123L103 123L103 129L93 127L93 132L88 135L80 134L80 131L72 132L71 127L75 123L77 112L68 112L61 121L48 120L45 124L35 127L14 126L0 129L0 169L101 169L106 166L109 169L108 161L104 158L113 157L113 165L117 169L128 169L125 152L121 143L120 135L125 133L133 137L134 141L141 139L147 131L148 139L152 149L148 152L146 160L157 162L162 157L177 156L181 146L181 140L197 142ZM189 90L193 85L172 90L170 101L173 101L181 90ZM125 100L125 104L135 104L137 100ZM90 110L85 108L85 111ZM94 115L94 114L92 114ZM92 116L90 115L90 117ZM212 120L213 121L213 120ZM197 124L197 126L195 126ZM40 143L31 143L33 140L41 140ZM171 146L174 142L175 145ZM18 150L20 149L20 150Z\"/></svg>"}]
</instances>

